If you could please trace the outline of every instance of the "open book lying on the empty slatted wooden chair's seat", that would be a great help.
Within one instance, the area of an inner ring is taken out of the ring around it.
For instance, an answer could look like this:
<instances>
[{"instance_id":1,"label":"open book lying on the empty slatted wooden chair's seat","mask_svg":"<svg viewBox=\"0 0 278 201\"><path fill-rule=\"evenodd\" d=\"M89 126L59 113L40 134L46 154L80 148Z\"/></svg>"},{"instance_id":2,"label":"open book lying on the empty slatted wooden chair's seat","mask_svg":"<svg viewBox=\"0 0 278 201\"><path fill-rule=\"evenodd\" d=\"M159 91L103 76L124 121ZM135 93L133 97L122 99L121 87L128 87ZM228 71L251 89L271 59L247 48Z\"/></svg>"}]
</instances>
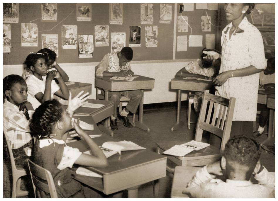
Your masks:
<instances>
[{"instance_id":1,"label":"open book lying on the empty slatted wooden chair's seat","mask_svg":"<svg viewBox=\"0 0 278 201\"><path fill-rule=\"evenodd\" d=\"M163 154L183 157L186 154L189 154L190 152L192 152L194 150L198 151L200 149L204 149L205 147L208 147L209 145L210 144L208 144L208 143L191 140L190 142L187 142L187 143L184 143L181 145L176 144L175 146L171 147L170 149L164 151Z\"/></svg>"}]
</instances>

